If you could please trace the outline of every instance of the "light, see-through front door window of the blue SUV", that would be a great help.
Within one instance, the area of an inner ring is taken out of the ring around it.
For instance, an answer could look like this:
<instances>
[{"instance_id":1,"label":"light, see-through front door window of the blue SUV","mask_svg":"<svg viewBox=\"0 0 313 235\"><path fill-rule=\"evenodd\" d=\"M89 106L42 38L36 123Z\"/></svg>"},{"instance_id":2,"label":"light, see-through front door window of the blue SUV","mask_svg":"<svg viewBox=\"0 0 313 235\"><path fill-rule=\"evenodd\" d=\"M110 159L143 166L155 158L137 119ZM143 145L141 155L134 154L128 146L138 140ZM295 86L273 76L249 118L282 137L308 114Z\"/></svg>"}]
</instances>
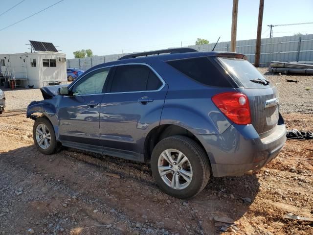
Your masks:
<instances>
[{"instance_id":1,"label":"light, see-through front door window of the blue SUV","mask_svg":"<svg viewBox=\"0 0 313 235\"><path fill-rule=\"evenodd\" d=\"M73 95L100 94L108 79L110 68L97 70L82 77L72 88Z\"/></svg>"}]
</instances>

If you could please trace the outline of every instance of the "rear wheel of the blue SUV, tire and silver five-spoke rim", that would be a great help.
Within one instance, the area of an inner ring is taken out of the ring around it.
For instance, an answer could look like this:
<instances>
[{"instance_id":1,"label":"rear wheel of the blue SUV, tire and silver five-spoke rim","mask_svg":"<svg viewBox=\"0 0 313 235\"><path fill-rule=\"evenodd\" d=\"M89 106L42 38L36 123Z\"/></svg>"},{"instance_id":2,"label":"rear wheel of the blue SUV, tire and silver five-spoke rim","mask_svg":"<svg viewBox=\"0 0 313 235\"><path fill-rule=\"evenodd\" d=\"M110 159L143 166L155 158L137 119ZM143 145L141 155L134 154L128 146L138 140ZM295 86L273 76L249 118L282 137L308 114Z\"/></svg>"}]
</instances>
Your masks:
<instances>
[{"instance_id":1,"label":"rear wheel of the blue SUV, tire and silver five-spoke rim","mask_svg":"<svg viewBox=\"0 0 313 235\"><path fill-rule=\"evenodd\" d=\"M165 156L166 151L170 153L167 156L172 157L172 164L166 161L169 159ZM183 161L183 164L179 163ZM165 168L166 170L163 170ZM156 184L167 194L181 199L197 195L207 185L210 178L208 156L197 142L184 136L171 136L159 141L152 151L151 169ZM172 172L166 173L168 171ZM162 172L165 174L161 177ZM174 175L178 175L178 180L175 178L173 187Z\"/></svg>"}]
</instances>

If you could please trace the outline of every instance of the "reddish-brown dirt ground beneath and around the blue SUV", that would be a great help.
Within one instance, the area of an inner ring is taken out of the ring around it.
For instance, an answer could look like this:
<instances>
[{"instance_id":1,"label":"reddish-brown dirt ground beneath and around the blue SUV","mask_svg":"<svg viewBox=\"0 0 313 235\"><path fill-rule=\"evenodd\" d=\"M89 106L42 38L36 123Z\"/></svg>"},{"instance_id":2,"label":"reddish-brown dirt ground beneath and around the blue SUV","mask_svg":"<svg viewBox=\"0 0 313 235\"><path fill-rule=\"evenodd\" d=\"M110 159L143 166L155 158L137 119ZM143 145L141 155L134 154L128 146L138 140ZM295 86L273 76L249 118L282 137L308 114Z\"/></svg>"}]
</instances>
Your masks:
<instances>
[{"instance_id":1,"label":"reddish-brown dirt ground beneath and around the blue SUV","mask_svg":"<svg viewBox=\"0 0 313 235\"><path fill-rule=\"evenodd\" d=\"M283 109L287 127L312 131L312 112L298 107ZM211 178L180 200L160 191L145 164L69 148L41 154L33 122L24 111L0 116L0 234L313 234L313 222L283 218L313 218L313 141L289 140L256 174ZM216 216L239 230L219 231Z\"/></svg>"}]
</instances>

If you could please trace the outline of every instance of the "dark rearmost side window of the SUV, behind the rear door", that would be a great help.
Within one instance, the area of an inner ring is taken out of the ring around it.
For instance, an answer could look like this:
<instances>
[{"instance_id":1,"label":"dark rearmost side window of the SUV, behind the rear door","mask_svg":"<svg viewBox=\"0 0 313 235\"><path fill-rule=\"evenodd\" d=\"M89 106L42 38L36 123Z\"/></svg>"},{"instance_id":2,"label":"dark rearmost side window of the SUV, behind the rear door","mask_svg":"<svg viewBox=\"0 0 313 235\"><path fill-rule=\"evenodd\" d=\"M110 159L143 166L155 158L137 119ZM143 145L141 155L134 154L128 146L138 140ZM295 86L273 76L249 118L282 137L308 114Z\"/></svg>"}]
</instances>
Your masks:
<instances>
[{"instance_id":1,"label":"dark rearmost side window of the SUV, behind the rear door","mask_svg":"<svg viewBox=\"0 0 313 235\"><path fill-rule=\"evenodd\" d=\"M207 58L191 58L172 60L167 63L188 77L204 85L215 87L231 87L223 72Z\"/></svg>"}]
</instances>

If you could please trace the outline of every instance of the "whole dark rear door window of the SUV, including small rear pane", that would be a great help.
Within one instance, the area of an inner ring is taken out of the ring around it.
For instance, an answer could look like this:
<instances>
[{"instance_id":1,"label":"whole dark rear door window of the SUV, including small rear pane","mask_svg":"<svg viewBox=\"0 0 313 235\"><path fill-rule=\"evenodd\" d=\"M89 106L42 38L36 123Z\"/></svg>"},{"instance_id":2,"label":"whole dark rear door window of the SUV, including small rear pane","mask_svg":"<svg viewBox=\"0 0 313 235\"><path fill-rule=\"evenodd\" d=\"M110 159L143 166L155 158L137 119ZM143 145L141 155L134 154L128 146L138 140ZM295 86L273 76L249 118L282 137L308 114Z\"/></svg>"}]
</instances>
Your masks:
<instances>
[{"instance_id":1,"label":"whole dark rear door window of the SUV, including small rear pane","mask_svg":"<svg viewBox=\"0 0 313 235\"><path fill-rule=\"evenodd\" d=\"M162 86L156 74L145 65L117 66L111 92L155 91Z\"/></svg>"}]
</instances>

